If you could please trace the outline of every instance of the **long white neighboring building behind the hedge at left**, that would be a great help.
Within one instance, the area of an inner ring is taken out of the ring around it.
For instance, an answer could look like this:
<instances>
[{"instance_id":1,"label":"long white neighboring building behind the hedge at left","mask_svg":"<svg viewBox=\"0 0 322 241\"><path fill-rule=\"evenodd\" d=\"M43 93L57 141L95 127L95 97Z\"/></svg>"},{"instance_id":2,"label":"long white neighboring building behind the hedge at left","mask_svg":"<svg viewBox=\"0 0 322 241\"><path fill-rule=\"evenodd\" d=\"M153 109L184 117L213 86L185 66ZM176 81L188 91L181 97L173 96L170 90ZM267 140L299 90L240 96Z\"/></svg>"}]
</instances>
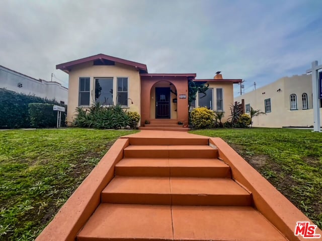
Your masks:
<instances>
[{"instance_id":1,"label":"long white neighboring building behind the hedge at left","mask_svg":"<svg viewBox=\"0 0 322 241\"><path fill-rule=\"evenodd\" d=\"M68 100L68 89L60 83L34 79L1 65L0 88L42 98L55 99L58 103L62 104L67 104Z\"/></svg>"}]
</instances>

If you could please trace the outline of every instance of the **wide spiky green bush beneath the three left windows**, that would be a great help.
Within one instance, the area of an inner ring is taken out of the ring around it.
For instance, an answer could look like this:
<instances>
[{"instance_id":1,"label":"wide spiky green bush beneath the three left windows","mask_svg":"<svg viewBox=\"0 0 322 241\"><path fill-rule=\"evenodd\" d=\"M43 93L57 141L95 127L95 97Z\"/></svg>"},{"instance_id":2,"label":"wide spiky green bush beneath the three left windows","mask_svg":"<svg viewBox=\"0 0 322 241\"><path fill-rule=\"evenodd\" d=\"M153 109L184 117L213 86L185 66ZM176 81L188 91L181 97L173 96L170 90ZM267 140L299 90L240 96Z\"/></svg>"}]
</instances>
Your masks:
<instances>
[{"instance_id":1,"label":"wide spiky green bush beneath the three left windows","mask_svg":"<svg viewBox=\"0 0 322 241\"><path fill-rule=\"evenodd\" d=\"M120 129L130 125L129 116L121 106L105 107L100 103L93 104L89 109L76 108L75 127L88 127L95 129Z\"/></svg>"}]
</instances>

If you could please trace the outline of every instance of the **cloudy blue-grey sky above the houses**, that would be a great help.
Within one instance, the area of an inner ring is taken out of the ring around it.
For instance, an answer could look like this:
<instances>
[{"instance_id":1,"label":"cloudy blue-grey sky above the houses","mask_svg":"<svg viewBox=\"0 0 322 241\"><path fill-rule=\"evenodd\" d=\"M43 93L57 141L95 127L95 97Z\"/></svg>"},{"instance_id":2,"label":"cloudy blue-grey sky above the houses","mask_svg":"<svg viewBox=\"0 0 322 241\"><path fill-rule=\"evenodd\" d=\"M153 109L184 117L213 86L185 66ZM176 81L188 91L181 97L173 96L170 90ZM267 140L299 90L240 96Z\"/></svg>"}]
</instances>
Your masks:
<instances>
[{"instance_id":1,"label":"cloudy blue-grey sky above the houses","mask_svg":"<svg viewBox=\"0 0 322 241\"><path fill-rule=\"evenodd\" d=\"M57 64L103 53L149 73L222 71L249 92L322 64L321 9L321 0L1 0L0 65L68 86Z\"/></svg>"}]
</instances>

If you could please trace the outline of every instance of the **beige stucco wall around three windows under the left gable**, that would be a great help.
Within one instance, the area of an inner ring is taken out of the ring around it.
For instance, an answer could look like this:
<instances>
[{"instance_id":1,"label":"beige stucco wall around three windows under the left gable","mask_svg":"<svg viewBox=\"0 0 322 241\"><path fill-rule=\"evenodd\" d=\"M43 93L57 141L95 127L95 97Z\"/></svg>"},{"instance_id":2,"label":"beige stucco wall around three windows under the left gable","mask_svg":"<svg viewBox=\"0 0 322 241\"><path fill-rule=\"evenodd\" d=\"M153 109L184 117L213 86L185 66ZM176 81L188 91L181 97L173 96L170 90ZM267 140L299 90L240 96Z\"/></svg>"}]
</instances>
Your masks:
<instances>
[{"instance_id":1,"label":"beige stucco wall around three windows under the left gable","mask_svg":"<svg viewBox=\"0 0 322 241\"><path fill-rule=\"evenodd\" d=\"M115 63L115 65L93 65L93 62L79 64L69 72L68 85L68 110L67 122L71 125L74 116L75 108L78 106L78 90L79 77L90 77L90 102L95 102L95 78L97 77L113 77L113 92L117 90L117 77L128 78L128 110L137 111L140 113L140 76L139 72L132 66ZM113 101L116 103L116 94L113 94Z\"/></svg>"}]
</instances>

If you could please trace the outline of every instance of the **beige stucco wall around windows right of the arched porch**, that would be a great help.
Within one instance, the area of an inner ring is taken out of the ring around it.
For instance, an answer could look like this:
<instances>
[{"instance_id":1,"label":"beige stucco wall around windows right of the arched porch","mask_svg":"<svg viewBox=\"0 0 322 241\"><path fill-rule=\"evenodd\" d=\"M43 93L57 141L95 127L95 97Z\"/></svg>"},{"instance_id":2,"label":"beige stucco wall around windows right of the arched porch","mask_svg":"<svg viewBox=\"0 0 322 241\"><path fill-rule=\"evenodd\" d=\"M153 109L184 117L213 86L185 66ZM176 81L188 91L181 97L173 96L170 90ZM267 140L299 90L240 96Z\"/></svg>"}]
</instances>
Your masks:
<instances>
[{"instance_id":1,"label":"beige stucco wall around windows right of the arched porch","mask_svg":"<svg viewBox=\"0 0 322 241\"><path fill-rule=\"evenodd\" d=\"M209 88L213 89L213 107L212 109L216 111L217 106L217 96L216 96L216 89L222 88L222 96L223 96L223 111L224 117L222 118L222 122L226 122L230 115L230 105L233 104L233 84L232 83L214 83L214 82L208 82ZM196 98L196 106L198 106L198 94Z\"/></svg>"}]
</instances>

